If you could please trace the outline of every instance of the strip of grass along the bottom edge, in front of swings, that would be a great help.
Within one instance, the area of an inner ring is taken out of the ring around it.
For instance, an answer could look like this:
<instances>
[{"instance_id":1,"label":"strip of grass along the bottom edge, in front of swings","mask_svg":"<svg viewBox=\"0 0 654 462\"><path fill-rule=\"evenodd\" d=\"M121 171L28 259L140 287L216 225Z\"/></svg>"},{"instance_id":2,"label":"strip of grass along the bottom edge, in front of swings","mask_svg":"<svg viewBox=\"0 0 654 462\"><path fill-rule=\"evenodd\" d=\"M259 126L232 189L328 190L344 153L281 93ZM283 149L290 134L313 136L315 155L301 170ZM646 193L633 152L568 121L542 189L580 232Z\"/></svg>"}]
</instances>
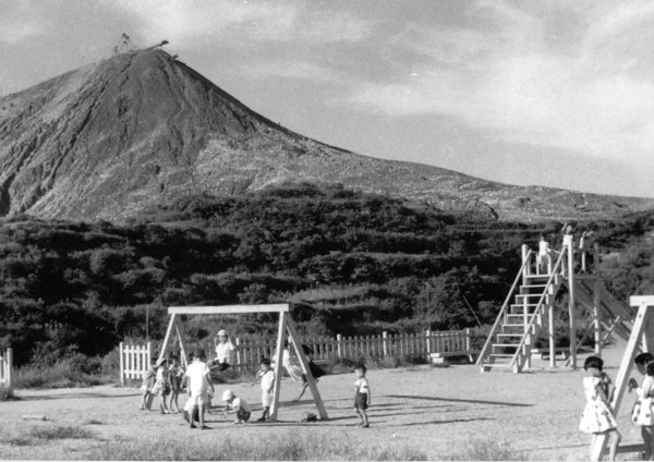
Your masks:
<instances>
[{"instance_id":1,"label":"strip of grass along the bottom edge, in front of swings","mask_svg":"<svg viewBox=\"0 0 654 462\"><path fill-rule=\"evenodd\" d=\"M249 440L225 439L215 443L193 446L171 439L132 440L121 445L106 443L90 454L93 460L334 460L334 461L423 461L426 454L409 445L363 446L346 434L317 437L269 435Z\"/></svg>"}]
</instances>

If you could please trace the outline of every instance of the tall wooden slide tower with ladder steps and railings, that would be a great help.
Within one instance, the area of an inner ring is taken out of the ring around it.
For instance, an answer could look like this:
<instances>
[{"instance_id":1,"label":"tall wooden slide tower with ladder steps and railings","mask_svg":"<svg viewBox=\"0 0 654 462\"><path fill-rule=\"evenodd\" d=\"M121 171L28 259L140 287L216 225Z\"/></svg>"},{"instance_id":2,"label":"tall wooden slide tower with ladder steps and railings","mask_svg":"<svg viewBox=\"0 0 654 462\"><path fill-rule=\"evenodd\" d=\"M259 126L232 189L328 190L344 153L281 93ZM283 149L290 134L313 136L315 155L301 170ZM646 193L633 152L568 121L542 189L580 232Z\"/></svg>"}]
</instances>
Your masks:
<instances>
[{"instance_id":1,"label":"tall wooden slide tower with ladder steps and railings","mask_svg":"<svg viewBox=\"0 0 654 462\"><path fill-rule=\"evenodd\" d=\"M593 254L595 270L578 272L572 239L565 242L556 260L553 258L555 253L550 252L546 262L538 262L534 252L522 246L522 266L477 360L482 372L505 368L520 373L531 367L531 353L540 336L547 338L549 366L556 367L556 353L560 348L554 336L554 302L561 288L567 289L569 300L570 345L566 365L577 368L578 307L593 319L583 340L591 335L594 337L596 355L602 354L602 345L610 336L629 339L634 311L606 289L596 269L597 245L593 246Z\"/></svg>"}]
</instances>

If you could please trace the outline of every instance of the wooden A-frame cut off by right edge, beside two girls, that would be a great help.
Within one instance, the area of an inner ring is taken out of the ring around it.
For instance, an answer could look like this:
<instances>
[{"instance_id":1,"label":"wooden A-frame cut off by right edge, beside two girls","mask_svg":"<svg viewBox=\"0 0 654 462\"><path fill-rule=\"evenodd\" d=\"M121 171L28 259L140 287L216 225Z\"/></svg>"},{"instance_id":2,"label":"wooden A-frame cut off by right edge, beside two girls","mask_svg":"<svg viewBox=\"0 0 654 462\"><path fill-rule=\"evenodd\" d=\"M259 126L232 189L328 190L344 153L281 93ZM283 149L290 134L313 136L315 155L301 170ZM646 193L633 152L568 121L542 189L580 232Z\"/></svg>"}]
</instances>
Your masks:
<instances>
[{"instance_id":1,"label":"wooden A-frame cut off by right edge, beside two girls","mask_svg":"<svg viewBox=\"0 0 654 462\"><path fill-rule=\"evenodd\" d=\"M616 388L610 401L610 408L616 416L620 411L620 404L629 384L629 374L633 367L633 360L641 352L654 354L654 295L632 296L630 305L638 307L638 313L633 321L631 336L629 336L629 341L627 342L627 349L622 355L622 363L616 377ZM597 436L591 460L598 461L602 458L602 453L606 448L606 435ZM617 452L640 452L643 449L644 445L622 445L618 447Z\"/></svg>"}]
</instances>

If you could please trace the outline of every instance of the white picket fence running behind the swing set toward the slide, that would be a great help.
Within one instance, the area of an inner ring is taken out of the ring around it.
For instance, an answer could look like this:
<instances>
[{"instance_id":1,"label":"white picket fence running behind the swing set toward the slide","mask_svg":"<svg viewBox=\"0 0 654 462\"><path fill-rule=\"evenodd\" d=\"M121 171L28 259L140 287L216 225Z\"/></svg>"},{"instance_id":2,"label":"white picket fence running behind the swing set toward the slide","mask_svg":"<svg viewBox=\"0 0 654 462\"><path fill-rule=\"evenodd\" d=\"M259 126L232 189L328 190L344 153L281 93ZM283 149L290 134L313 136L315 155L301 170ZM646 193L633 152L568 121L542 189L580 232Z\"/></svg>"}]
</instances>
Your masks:
<instances>
[{"instance_id":1,"label":"white picket fence running behind the swing set toward the slide","mask_svg":"<svg viewBox=\"0 0 654 462\"><path fill-rule=\"evenodd\" d=\"M358 360L362 356L420 356L428 358L433 353L447 355L471 354L472 333L470 329L431 331L423 333L392 335L383 332L379 336L343 337L340 333L336 338L303 338L303 344L313 351L314 360L336 361L340 358ZM265 356L271 358L277 348L275 337L245 337L235 338L233 342L238 346L235 353L234 369L256 370L259 360ZM192 351L202 348L208 357L213 357L216 349L215 339L203 342L191 342L189 349ZM120 346L121 357L121 385L125 379L141 379L147 369L152 357L152 342L146 346L123 345ZM179 356L179 345L173 345L172 353ZM187 352L189 353L189 352ZM124 367L123 367L124 364Z\"/></svg>"}]
</instances>

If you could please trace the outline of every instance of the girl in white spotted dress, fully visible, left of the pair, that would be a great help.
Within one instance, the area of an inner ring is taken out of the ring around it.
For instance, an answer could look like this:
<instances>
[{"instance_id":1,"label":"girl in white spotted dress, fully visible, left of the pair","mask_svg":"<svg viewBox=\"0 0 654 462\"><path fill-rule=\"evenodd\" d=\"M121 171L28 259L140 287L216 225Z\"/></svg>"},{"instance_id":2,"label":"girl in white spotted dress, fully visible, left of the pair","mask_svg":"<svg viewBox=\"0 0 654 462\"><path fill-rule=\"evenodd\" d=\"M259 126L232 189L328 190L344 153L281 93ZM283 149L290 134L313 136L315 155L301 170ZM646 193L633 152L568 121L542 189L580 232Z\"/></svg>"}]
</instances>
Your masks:
<instances>
[{"instance_id":1,"label":"girl in white spotted dress, fully visible, left of the pair","mask_svg":"<svg viewBox=\"0 0 654 462\"><path fill-rule=\"evenodd\" d=\"M586 405L579 424L579 429L592 435L591 458L597 435L608 437L609 460L615 460L616 450L621 436L617 429L616 420L608 405L608 387L610 379L602 372L604 362L597 356L590 356L583 364L588 376L583 379L583 391Z\"/></svg>"}]
</instances>

